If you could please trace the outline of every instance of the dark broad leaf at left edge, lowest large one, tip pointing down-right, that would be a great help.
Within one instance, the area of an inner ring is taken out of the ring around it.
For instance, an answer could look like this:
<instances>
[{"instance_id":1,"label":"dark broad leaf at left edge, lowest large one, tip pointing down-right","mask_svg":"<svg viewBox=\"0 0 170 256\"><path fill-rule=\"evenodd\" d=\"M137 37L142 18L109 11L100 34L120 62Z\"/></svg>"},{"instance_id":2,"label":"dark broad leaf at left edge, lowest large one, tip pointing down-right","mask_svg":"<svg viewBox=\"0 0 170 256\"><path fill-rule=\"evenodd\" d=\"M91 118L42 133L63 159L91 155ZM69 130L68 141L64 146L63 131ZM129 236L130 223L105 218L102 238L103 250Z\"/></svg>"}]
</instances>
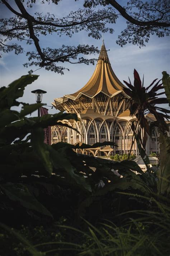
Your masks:
<instances>
[{"instance_id":1,"label":"dark broad leaf at left edge, lowest large one, tip pointing down-right","mask_svg":"<svg viewBox=\"0 0 170 256\"><path fill-rule=\"evenodd\" d=\"M0 187L12 201L20 202L25 208L53 218L51 213L33 197L26 185L7 183L0 185Z\"/></svg>"}]
</instances>

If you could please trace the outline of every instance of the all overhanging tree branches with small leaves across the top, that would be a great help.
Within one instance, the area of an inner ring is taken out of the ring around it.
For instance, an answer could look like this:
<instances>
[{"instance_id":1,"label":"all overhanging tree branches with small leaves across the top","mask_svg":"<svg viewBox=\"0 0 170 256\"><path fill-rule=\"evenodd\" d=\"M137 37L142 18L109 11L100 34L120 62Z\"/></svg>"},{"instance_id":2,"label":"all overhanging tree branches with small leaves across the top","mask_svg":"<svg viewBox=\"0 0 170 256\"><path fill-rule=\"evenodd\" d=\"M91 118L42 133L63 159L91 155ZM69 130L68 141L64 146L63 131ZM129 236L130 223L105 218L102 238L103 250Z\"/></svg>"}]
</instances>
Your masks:
<instances>
[{"instance_id":1,"label":"all overhanging tree branches with small leaves across the top","mask_svg":"<svg viewBox=\"0 0 170 256\"><path fill-rule=\"evenodd\" d=\"M46 0L48 3L51 0ZM130 0L127 6L121 6L114 0L85 0L84 9L70 12L63 18L57 18L53 14L42 14L36 12L30 14L30 8L36 4L36 0L6 1L1 0L1 6L5 6L11 12L11 16L1 18L0 50L2 52L15 51L15 54L24 52L23 44L15 41L25 41L34 44L36 50L28 51L28 62L25 67L45 68L63 74L63 63L85 63L94 64L95 59L86 58L83 55L94 54L98 48L93 45L62 45L60 48L52 49L42 47L39 37L56 33L58 36L66 35L72 37L79 31L88 32L88 36L100 39L101 32L113 33L113 26L122 15L127 20L127 28L118 36L117 44L123 46L127 42L144 46L150 35L158 37L169 35L169 1L152 0L144 2L141 0ZM15 4L14 4L15 2ZM45 1L41 1L43 4ZM52 0L58 4L59 0ZM103 9L94 9L97 5L103 5ZM109 5L109 6L108 6ZM57 5L55 5L57 9ZM11 43L10 43L11 41ZM61 64L60 64L61 63ZM29 73L32 73L30 69Z\"/></svg>"}]
</instances>

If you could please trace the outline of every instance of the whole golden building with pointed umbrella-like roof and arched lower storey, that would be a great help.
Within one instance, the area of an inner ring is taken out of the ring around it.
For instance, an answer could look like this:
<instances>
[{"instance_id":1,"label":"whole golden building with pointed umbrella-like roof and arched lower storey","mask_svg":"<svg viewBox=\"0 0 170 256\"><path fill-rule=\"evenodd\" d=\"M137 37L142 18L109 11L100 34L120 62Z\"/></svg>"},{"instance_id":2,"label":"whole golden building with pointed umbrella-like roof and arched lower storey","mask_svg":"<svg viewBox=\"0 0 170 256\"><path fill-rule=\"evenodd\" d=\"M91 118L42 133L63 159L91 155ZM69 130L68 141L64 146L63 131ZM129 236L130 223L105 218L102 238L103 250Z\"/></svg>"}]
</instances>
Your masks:
<instances>
[{"instance_id":1,"label":"whole golden building with pointed umbrella-like roof and arched lower storey","mask_svg":"<svg viewBox=\"0 0 170 256\"><path fill-rule=\"evenodd\" d=\"M79 91L54 99L52 105L60 111L76 113L78 121L69 120L66 123L76 128L79 133L68 127L52 127L52 143L67 142L70 144L96 142L115 142L118 147L108 146L79 149L77 153L91 156L110 156L128 153L132 144L131 122L136 117L130 117L128 96L123 92L125 87L115 75L108 58L104 43L95 71ZM149 122L155 121L152 114L147 114ZM142 130L141 130L142 135ZM159 153L158 132L152 130L146 145L146 153ZM133 144L132 153L138 155L137 143Z\"/></svg>"}]
</instances>

